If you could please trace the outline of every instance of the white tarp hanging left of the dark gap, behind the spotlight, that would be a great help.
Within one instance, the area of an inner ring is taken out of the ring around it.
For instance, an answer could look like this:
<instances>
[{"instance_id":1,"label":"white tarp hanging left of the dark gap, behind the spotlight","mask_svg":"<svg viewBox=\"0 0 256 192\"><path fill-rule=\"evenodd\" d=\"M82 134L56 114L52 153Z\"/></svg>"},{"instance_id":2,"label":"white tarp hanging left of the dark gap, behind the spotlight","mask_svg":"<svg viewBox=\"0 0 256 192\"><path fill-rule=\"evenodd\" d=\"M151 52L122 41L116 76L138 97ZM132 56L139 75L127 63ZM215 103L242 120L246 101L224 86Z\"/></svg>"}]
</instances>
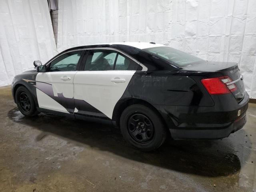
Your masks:
<instances>
[{"instance_id":1,"label":"white tarp hanging left of the dark gap, behind the spotlight","mask_svg":"<svg viewBox=\"0 0 256 192\"><path fill-rule=\"evenodd\" d=\"M47 0L0 0L0 86L56 53Z\"/></svg>"}]
</instances>

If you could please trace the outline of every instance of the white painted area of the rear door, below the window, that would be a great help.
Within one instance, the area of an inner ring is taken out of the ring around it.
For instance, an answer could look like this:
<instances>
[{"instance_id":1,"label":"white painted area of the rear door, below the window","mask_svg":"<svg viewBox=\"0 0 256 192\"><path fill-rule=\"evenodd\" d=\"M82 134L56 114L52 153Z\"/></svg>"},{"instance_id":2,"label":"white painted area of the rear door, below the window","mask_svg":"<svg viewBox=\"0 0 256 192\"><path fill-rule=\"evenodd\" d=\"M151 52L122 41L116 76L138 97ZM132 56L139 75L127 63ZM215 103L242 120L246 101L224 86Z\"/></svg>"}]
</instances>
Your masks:
<instances>
[{"instance_id":1,"label":"white painted area of the rear door, below the window","mask_svg":"<svg viewBox=\"0 0 256 192\"><path fill-rule=\"evenodd\" d=\"M84 100L112 119L114 107L124 94L135 71L78 71L74 98Z\"/></svg>"}]
</instances>

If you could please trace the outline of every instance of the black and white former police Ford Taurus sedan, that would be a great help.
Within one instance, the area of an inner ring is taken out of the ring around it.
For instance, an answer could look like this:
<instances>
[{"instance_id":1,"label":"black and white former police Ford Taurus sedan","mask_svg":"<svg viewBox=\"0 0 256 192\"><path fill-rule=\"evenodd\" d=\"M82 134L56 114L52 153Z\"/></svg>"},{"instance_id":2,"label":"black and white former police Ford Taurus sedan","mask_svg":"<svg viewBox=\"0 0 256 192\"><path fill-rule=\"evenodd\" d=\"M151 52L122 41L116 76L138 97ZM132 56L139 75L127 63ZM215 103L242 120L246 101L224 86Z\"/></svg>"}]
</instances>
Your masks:
<instances>
[{"instance_id":1,"label":"black and white former police Ford Taurus sedan","mask_svg":"<svg viewBox=\"0 0 256 192\"><path fill-rule=\"evenodd\" d=\"M122 42L70 48L34 65L12 82L22 114L108 122L139 150L155 150L168 135L225 138L246 123L249 96L236 63Z\"/></svg>"}]
</instances>

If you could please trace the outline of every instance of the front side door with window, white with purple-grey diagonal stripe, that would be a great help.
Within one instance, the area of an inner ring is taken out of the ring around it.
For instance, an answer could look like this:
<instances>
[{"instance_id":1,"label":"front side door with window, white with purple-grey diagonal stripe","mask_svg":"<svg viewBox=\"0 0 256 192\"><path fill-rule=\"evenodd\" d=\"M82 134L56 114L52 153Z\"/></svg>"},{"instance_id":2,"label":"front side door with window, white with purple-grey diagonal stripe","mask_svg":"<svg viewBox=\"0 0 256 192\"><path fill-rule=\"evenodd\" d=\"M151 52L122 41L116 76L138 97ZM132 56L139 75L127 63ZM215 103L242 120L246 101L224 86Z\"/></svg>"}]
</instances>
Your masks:
<instances>
[{"instance_id":1,"label":"front side door with window, white with purple-grey diagonal stripe","mask_svg":"<svg viewBox=\"0 0 256 192\"><path fill-rule=\"evenodd\" d=\"M36 75L36 95L40 108L74 112L74 76L83 50L67 52L47 65L47 72Z\"/></svg>"}]
</instances>

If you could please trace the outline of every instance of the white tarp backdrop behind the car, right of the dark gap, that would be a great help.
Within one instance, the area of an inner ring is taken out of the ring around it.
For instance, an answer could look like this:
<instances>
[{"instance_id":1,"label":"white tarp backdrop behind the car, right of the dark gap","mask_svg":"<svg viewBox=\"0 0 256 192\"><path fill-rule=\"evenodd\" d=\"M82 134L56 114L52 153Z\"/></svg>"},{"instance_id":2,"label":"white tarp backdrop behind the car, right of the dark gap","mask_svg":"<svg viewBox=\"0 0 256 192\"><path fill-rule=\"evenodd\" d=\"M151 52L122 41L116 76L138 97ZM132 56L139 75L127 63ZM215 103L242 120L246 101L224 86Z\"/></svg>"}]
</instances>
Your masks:
<instances>
[{"instance_id":1,"label":"white tarp backdrop behind the car, right of the dark gap","mask_svg":"<svg viewBox=\"0 0 256 192\"><path fill-rule=\"evenodd\" d=\"M122 41L238 62L256 98L256 0L59 0L58 51Z\"/></svg>"}]
</instances>

